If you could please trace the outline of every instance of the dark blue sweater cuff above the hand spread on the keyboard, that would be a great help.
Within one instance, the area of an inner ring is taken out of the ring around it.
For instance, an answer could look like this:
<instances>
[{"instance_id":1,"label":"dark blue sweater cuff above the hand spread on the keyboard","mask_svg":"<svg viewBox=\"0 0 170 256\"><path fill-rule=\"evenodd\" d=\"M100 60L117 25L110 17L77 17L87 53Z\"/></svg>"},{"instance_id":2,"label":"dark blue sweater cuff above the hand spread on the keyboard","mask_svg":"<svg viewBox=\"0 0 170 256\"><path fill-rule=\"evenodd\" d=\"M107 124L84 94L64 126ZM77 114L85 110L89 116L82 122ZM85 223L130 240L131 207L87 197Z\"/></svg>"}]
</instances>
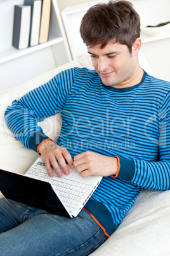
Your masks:
<instances>
[{"instance_id":1,"label":"dark blue sweater cuff above the hand spread on the keyboard","mask_svg":"<svg viewBox=\"0 0 170 256\"><path fill-rule=\"evenodd\" d=\"M49 138L43 132L40 132L40 131L35 132L29 138L29 148L37 152L37 147L39 146L39 144L41 144L42 141L46 139L49 139Z\"/></svg>"}]
</instances>

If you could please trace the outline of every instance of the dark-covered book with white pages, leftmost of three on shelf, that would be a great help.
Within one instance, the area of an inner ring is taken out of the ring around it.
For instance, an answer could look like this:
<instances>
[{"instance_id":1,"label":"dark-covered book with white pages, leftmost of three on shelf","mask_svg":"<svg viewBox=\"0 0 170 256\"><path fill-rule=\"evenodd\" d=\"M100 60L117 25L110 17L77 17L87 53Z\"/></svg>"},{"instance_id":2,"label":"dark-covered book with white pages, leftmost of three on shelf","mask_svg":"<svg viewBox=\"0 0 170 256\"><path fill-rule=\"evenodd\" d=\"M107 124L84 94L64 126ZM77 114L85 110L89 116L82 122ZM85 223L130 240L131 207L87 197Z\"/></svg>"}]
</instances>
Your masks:
<instances>
[{"instance_id":1,"label":"dark-covered book with white pages, leftmost of three on shelf","mask_svg":"<svg viewBox=\"0 0 170 256\"><path fill-rule=\"evenodd\" d=\"M29 46L31 6L15 5L12 45L17 49Z\"/></svg>"}]
</instances>

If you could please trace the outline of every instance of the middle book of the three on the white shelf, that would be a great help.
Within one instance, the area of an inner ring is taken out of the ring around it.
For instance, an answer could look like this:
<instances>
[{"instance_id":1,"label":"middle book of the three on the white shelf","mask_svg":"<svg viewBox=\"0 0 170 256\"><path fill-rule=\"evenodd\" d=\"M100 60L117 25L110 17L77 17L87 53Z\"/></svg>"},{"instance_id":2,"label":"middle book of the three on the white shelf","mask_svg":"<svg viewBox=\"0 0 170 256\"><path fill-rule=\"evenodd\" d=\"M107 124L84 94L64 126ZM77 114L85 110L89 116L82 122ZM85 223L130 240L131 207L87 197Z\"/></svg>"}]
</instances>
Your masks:
<instances>
[{"instance_id":1,"label":"middle book of the three on the white shelf","mask_svg":"<svg viewBox=\"0 0 170 256\"><path fill-rule=\"evenodd\" d=\"M29 46L38 45L42 0L25 0L24 4L31 6Z\"/></svg>"}]
</instances>

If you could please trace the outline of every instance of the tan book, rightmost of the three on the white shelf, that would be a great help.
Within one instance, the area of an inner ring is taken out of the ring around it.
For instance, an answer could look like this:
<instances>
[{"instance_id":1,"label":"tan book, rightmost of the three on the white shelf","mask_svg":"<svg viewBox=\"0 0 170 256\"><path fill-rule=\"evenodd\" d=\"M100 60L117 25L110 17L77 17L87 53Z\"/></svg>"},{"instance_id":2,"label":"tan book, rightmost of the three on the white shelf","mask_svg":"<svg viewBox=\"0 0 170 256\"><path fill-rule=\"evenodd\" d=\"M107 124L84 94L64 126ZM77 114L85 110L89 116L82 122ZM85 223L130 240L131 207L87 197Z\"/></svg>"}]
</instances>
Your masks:
<instances>
[{"instance_id":1,"label":"tan book, rightmost of the three on the white shelf","mask_svg":"<svg viewBox=\"0 0 170 256\"><path fill-rule=\"evenodd\" d=\"M41 25L39 32L39 43L46 43L49 36L49 22L51 13L51 0L42 1Z\"/></svg>"}]
</instances>

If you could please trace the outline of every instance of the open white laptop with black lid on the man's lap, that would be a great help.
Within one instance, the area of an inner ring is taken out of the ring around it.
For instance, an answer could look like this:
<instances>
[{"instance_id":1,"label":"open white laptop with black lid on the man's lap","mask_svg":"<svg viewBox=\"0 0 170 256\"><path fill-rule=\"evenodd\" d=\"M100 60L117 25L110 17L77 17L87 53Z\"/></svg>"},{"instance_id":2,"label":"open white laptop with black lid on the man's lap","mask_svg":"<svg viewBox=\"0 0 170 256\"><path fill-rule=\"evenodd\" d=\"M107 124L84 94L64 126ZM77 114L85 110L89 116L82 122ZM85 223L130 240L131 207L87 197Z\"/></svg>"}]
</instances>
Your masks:
<instances>
[{"instance_id":1,"label":"open white laptop with black lid on the man's lap","mask_svg":"<svg viewBox=\"0 0 170 256\"><path fill-rule=\"evenodd\" d=\"M58 163L61 171L62 167ZM66 217L76 217L100 184L101 176L82 177L75 168L69 175L50 177L41 157L27 173L0 169L0 190L4 197ZM63 172L63 171L62 171Z\"/></svg>"}]
</instances>

